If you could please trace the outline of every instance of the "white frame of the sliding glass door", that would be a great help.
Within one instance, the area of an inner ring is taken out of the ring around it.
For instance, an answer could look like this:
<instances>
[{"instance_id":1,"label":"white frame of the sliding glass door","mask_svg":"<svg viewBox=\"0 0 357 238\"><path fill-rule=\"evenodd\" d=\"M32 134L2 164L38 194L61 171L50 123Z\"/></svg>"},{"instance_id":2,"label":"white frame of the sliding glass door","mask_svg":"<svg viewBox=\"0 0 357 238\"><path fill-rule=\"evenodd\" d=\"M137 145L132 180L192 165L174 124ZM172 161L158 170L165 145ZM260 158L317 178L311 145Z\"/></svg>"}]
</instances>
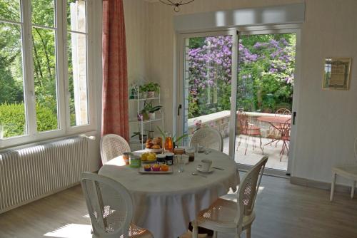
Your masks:
<instances>
[{"instance_id":1,"label":"white frame of the sliding glass door","mask_svg":"<svg viewBox=\"0 0 357 238\"><path fill-rule=\"evenodd\" d=\"M176 58L178 59L175 63L176 73L175 79L177 92L176 97L174 98L174 108L178 109L178 105L183 105L183 69L184 69L184 38L188 37L205 37L205 36L222 36L222 35L232 35L233 36L233 45L232 45L232 79L233 76L238 73L238 49L233 51L233 47L238 47L238 38L239 36L246 35L258 35L258 34L276 34L276 33L296 33L296 56L295 56L295 73L294 73L294 85L293 85L293 105L292 112L298 111L299 104L299 95L300 93L300 82L301 82L301 24L281 24L281 25L266 25L266 26L241 26L234 28L223 29L222 31L206 30L206 31L196 31L196 32L185 32L185 33L176 33ZM234 43L235 42L235 43ZM236 58L234 60L233 58ZM233 66L235 64L235 66ZM234 71L234 72L233 72ZM236 111L236 80L232 80L232 90L231 90L231 112ZM233 89L234 88L234 89ZM175 100L176 99L176 100ZM181 110L182 111L182 110ZM183 113L178 116L174 116L173 120L176 120L176 133L181 135L183 133ZM295 121L296 123L291 125L291 142L290 150L288 157L288 167L286 171L283 170L274 170L266 168L266 172L272 175L285 176L293 174L294 171L294 161L296 160L296 138L298 138L298 116L297 113ZM236 147L236 113L231 113L231 122L229 128L229 155L232 159L235 156L235 147ZM249 165L241 165L239 167L243 169L248 169Z\"/></svg>"}]
</instances>

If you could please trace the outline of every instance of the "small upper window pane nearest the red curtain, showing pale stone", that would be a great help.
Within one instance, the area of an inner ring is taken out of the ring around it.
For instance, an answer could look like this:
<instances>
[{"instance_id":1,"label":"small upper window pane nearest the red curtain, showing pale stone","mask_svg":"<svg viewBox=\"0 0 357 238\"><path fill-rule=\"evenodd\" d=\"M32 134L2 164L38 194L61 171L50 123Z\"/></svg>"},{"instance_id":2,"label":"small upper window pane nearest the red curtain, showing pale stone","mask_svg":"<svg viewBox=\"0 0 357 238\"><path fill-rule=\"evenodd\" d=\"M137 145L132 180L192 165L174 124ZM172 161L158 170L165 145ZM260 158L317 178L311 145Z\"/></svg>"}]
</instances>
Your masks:
<instances>
[{"instance_id":1,"label":"small upper window pane nearest the red curtain, showing pale stone","mask_svg":"<svg viewBox=\"0 0 357 238\"><path fill-rule=\"evenodd\" d=\"M67 1L67 29L86 32L86 1Z\"/></svg>"}]
</instances>

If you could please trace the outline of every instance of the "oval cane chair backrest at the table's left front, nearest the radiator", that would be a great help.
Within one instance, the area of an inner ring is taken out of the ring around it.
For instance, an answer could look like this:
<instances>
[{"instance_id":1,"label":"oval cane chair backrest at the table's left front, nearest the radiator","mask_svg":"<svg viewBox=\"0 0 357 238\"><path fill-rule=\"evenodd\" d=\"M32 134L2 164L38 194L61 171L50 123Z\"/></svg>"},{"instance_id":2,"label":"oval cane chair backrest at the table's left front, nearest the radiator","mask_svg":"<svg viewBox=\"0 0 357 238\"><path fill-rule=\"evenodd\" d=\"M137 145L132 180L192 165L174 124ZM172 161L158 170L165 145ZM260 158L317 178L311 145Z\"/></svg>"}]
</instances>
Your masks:
<instances>
[{"instance_id":1,"label":"oval cane chair backrest at the table's left front, nearest the radiator","mask_svg":"<svg viewBox=\"0 0 357 238\"><path fill-rule=\"evenodd\" d=\"M129 237L133 200L119 182L91 172L81 175L81 186L91 217L94 237Z\"/></svg>"}]
</instances>

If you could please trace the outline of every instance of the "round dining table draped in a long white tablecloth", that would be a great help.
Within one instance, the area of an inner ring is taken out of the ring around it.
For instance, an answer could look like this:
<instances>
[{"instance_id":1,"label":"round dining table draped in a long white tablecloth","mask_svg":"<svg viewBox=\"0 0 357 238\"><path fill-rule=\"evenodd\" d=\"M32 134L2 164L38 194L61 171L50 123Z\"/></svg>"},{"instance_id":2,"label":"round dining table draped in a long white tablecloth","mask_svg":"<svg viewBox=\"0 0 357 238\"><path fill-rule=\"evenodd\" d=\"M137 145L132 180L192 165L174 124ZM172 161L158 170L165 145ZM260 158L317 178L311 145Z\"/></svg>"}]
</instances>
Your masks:
<instances>
[{"instance_id":1,"label":"round dining table draped in a long white tablecloth","mask_svg":"<svg viewBox=\"0 0 357 238\"><path fill-rule=\"evenodd\" d=\"M212 160L212 166L219 169L198 172L196 168L203 159ZM187 231L198 212L230 188L236 190L239 174L236 162L216 150L198 153L183 172L178 172L178 165L172 165L172 169L171 174L141 174L138 168L123 165L122 158L116 157L101 167L99 175L111 177L129 190L134 200L134 224L149 229L155 238L177 238Z\"/></svg>"}]
</instances>

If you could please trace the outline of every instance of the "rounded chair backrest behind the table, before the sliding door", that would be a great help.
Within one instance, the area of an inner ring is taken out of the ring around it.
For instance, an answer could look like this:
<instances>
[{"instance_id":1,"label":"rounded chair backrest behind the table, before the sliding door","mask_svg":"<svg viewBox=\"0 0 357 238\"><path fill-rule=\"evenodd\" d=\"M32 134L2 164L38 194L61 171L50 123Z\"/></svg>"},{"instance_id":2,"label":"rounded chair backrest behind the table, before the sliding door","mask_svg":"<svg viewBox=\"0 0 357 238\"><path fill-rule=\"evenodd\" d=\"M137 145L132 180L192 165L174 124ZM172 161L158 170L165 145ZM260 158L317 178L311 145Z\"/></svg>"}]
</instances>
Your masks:
<instances>
[{"instance_id":1,"label":"rounded chair backrest behind the table, before the sliding door","mask_svg":"<svg viewBox=\"0 0 357 238\"><path fill-rule=\"evenodd\" d=\"M214 128L198 129L190 140L190 146L202 145L205 148L223 151L223 138L221 133Z\"/></svg>"}]
</instances>

